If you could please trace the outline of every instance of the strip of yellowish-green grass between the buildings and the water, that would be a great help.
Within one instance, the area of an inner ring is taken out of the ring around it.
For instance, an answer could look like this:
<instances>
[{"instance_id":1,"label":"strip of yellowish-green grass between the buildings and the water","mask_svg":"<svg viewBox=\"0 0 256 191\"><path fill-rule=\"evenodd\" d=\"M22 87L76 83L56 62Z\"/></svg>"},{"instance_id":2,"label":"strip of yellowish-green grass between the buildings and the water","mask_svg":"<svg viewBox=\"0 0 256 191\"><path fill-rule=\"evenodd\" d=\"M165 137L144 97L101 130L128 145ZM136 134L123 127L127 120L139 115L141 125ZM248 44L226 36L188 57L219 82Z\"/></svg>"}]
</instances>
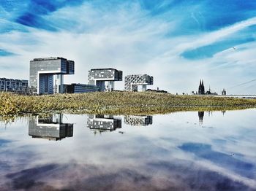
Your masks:
<instances>
[{"instance_id":1,"label":"strip of yellowish-green grass between the buildings and the water","mask_svg":"<svg viewBox=\"0 0 256 191\"><path fill-rule=\"evenodd\" d=\"M256 107L255 99L166 93L81 93L15 95L0 93L0 116L50 112L91 114L163 114L178 111L233 110Z\"/></svg>"}]
</instances>

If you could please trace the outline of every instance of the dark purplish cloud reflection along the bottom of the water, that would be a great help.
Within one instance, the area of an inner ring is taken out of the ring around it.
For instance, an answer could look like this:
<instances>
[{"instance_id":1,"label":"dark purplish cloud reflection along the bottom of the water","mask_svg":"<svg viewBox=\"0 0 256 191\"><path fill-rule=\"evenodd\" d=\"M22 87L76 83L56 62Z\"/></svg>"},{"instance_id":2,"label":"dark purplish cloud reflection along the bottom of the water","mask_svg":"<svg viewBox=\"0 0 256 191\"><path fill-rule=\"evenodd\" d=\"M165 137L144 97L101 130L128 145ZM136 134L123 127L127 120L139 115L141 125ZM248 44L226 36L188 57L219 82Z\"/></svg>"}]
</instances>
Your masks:
<instances>
[{"instance_id":1,"label":"dark purplish cloud reflection along the bottom of the water","mask_svg":"<svg viewBox=\"0 0 256 191\"><path fill-rule=\"evenodd\" d=\"M30 190L247 190L241 182L185 160L147 163L140 169L48 164L7 174L4 189Z\"/></svg>"}]
</instances>

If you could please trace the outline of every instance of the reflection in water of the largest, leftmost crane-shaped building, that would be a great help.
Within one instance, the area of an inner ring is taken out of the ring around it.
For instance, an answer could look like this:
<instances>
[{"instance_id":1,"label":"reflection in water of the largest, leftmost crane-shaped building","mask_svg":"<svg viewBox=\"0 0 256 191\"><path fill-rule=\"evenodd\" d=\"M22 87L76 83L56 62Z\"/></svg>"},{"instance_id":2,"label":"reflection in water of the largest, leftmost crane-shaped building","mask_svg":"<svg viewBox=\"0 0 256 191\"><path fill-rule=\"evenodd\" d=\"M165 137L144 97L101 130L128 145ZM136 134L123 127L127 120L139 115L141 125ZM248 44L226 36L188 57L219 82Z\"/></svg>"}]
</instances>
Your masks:
<instances>
[{"instance_id":1,"label":"reflection in water of the largest, leftmost crane-shaped building","mask_svg":"<svg viewBox=\"0 0 256 191\"><path fill-rule=\"evenodd\" d=\"M62 123L62 114L29 120L29 136L58 141L73 136L73 124Z\"/></svg>"}]
</instances>

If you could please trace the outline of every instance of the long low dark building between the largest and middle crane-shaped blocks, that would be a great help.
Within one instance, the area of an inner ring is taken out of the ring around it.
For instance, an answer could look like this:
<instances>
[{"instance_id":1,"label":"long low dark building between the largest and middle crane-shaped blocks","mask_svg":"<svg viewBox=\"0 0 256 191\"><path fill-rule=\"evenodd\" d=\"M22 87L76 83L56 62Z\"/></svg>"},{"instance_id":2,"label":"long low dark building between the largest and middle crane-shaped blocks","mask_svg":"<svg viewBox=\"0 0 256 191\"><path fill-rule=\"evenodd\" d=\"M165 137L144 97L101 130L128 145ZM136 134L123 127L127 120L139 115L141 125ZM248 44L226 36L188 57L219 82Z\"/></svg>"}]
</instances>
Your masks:
<instances>
[{"instance_id":1,"label":"long low dark building between the largest and middle crane-shaped blocks","mask_svg":"<svg viewBox=\"0 0 256 191\"><path fill-rule=\"evenodd\" d=\"M96 85L71 84L64 85L64 93L88 93L98 92L99 87Z\"/></svg>"}]
</instances>

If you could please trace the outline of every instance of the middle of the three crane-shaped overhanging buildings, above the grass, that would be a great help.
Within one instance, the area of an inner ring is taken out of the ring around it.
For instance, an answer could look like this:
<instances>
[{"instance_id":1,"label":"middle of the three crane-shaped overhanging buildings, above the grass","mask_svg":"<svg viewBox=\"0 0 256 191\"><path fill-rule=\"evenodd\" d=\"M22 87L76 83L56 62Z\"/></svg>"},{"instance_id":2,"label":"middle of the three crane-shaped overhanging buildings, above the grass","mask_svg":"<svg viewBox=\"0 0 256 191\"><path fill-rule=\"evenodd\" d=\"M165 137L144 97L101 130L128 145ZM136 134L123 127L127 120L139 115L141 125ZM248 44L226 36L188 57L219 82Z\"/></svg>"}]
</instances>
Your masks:
<instances>
[{"instance_id":1,"label":"middle of the three crane-shaped overhanging buildings, above the grass","mask_svg":"<svg viewBox=\"0 0 256 191\"><path fill-rule=\"evenodd\" d=\"M112 91L114 82L123 80L123 71L117 69L91 69L88 72L89 85L96 85L100 91Z\"/></svg>"}]
</instances>

